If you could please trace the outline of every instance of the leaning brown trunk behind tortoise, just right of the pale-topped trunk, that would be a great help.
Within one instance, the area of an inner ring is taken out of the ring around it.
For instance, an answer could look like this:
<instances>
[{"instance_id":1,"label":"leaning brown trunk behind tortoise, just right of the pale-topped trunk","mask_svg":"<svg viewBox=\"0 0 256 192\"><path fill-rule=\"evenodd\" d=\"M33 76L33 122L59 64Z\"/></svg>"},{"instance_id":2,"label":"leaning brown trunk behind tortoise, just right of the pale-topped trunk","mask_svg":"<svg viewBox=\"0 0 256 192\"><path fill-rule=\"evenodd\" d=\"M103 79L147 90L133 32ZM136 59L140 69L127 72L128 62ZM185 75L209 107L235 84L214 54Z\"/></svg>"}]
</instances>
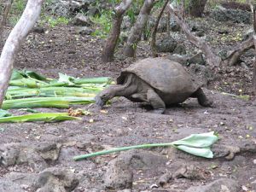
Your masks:
<instances>
[{"instance_id":1,"label":"leaning brown trunk behind tortoise, just right of the pale-topped trunk","mask_svg":"<svg viewBox=\"0 0 256 192\"><path fill-rule=\"evenodd\" d=\"M153 8L154 0L145 0L143 7L140 10L140 14L137 16L135 25L131 28L131 35L127 40L125 46L125 56L134 57L137 48L137 43L140 41L143 33L143 28L145 27L148 15Z\"/></svg>"}]
</instances>

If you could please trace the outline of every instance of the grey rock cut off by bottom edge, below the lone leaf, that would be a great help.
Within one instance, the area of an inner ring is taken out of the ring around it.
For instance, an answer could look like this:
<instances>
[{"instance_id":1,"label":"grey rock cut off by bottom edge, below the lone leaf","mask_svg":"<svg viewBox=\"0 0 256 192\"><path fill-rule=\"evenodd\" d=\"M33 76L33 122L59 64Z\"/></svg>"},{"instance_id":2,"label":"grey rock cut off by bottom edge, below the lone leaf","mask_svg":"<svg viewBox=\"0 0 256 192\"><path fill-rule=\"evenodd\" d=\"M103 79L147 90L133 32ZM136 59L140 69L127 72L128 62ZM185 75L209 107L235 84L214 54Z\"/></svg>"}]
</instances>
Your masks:
<instances>
[{"instance_id":1,"label":"grey rock cut off by bottom edge, below the lone leaf","mask_svg":"<svg viewBox=\"0 0 256 192\"><path fill-rule=\"evenodd\" d=\"M185 192L238 192L240 185L233 179L220 178L207 185L190 187Z\"/></svg>"}]
</instances>

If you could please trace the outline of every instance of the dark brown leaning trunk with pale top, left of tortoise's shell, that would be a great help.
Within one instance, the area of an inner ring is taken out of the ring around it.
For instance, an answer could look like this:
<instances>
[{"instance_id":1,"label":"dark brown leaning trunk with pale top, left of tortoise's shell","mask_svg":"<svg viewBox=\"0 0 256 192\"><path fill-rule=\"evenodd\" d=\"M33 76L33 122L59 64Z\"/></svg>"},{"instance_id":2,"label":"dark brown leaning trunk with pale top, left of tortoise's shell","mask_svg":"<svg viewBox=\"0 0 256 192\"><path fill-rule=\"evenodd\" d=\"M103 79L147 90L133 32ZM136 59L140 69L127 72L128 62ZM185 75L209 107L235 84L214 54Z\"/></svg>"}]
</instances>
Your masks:
<instances>
[{"instance_id":1,"label":"dark brown leaning trunk with pale top, left of tortoise's shell","mask_svg":"<svg viewBox=\"0 0 256 192\"><path fill-rule=\"evenodd\" d=\"M113 17L113 26L111 32L108 35L105 47L102 50L102 61L113 61L113 54L116 44L119 39L120 28L123 21L125 11L130 7L132 0L123 0L118 7L115 8L115 15Z\"/></svg>"}]
</instances>

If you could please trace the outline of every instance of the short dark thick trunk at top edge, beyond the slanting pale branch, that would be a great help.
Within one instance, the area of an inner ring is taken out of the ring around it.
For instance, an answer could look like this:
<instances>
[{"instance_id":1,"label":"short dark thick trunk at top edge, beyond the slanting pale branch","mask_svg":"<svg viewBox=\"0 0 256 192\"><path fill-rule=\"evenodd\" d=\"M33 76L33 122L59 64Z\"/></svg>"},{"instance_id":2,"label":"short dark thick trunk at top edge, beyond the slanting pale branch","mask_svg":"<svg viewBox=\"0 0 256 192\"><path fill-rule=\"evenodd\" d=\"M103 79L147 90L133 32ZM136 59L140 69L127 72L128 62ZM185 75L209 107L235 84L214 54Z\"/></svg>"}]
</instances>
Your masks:
<instances>
[{"instance_id":1,"label":"short dark thick trunk at top edge, beyond the slanting pale branch","mask_svg":"<svg viewBox=\"0 0 256 192\"><path fill-rule=\"evenodd\" d=\"M188 12L192 17L201 17L205 7L207 4L207 0L190 0Z\"/></svg>"}]
</instances>

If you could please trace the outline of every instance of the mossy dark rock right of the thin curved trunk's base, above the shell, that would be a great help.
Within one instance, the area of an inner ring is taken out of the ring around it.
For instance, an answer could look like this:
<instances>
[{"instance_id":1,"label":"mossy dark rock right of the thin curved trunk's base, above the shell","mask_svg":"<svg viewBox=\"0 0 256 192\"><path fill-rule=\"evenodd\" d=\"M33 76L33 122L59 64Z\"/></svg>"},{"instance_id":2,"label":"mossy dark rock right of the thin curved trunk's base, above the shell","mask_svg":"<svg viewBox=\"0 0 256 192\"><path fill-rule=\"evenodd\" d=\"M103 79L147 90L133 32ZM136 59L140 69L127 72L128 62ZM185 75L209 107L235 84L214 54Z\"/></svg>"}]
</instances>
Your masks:
<instances>
[{"instance_id":1,"label":"mossy dark rock right of the thin curved trunk's base, above the shell","mask_svg":"<svg viewBox=\"0 0 256 192\"><path fill-rule=\"evenodd\" d=\"M177 47L177 42L172 37L164 37L156 41L156 49L158 52L172 52Z\"/></svg>"}]
</instances>

